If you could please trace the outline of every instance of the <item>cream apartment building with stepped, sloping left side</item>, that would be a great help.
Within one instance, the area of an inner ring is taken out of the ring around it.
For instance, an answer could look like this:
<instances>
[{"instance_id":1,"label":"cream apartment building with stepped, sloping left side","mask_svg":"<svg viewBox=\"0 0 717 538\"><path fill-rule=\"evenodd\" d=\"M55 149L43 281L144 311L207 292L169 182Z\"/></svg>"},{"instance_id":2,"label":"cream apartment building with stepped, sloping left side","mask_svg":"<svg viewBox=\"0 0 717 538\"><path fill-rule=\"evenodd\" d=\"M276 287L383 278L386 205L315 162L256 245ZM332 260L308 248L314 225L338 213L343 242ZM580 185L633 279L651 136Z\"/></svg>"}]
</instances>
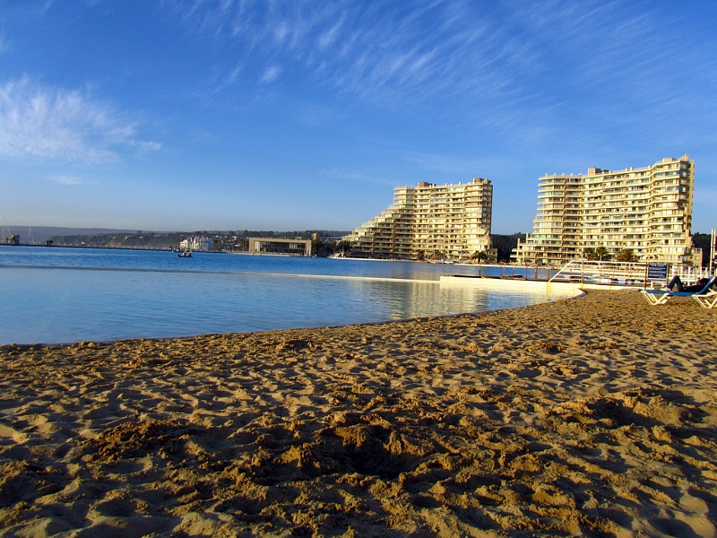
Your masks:
<instances>
[{"instance_id":1,"label":"cream apartment building with stepped, sloping left side","mask_svg":"<svg viewBox=\"0 0 717 538\"><path fill-rule=\"evenodd\" d=\"M493 185L470 183L396 187L393 204L345 239L354 255L419 259L423 256L465 261L476 252L495 260L490 244Z\"/></svg>"}]
</instances>

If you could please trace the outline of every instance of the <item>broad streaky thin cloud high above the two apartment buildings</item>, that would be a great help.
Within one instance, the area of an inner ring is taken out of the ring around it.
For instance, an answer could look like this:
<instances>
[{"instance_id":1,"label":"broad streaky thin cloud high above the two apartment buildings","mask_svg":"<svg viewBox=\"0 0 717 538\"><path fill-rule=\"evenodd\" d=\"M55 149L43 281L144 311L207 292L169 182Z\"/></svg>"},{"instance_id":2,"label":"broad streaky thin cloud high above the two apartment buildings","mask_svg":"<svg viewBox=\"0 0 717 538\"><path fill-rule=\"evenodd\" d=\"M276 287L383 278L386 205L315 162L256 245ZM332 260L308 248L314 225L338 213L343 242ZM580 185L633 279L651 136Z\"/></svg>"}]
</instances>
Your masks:
<instances>
[{"instance_id":1,"label":"broad streaky thin cloud high above the two apartment buildings","mask_svg":"<svg viewBox=\"0 0 717 538\"><path fill-rule=\"evenodd\" d=\"M293 83L317 82L379 107L443 111L510 132L544 130L568 115L589 122L606 109L629 121L637 108L662 106L665 95L689 102L683 75L665 66L715 66L705 52L695 57L684 32L670 34L669 24L689 23L679 13L668 24L650 3L625 0L169 4L192 31L231 43L246 66L242 83L290 73ZM712 85L714 71L695 76Z\"/></svg>"}]
</instances>

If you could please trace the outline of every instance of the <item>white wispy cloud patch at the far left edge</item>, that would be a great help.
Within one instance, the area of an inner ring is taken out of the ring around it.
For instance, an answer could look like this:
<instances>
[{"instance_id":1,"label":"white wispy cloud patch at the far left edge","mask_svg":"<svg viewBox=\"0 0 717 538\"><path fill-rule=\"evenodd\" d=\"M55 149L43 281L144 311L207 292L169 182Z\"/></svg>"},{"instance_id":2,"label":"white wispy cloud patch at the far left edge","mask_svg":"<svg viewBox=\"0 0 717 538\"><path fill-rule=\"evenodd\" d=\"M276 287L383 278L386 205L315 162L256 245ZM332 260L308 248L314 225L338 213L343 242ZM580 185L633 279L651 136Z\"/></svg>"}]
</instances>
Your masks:
<instances>
[{"instance_id":1,"label":"white wispy cloud patch at the far left edge","mask_svg":"<svg viewBox=\"0 0 717 538\"><path fill-rule=\"evenodd\" d=\"M117 161L121 148L157 151L137 138L137 124L82 91L30 82L0 86L0 154L82 164Z\"/></svg>"}]
</instances>

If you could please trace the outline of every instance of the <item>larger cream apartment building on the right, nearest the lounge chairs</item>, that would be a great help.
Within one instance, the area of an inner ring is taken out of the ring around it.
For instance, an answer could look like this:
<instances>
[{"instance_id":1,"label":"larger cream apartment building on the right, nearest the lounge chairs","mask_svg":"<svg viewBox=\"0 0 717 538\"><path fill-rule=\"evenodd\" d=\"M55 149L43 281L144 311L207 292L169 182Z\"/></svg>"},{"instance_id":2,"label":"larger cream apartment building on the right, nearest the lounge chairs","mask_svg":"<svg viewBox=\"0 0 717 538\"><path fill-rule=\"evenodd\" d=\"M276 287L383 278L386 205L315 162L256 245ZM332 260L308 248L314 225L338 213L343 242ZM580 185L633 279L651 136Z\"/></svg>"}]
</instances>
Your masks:
<instances>
[{"instance_id":1,"label":"larger cream apartment building on the right, nearest the lounge chairs","mask_svg":"<svg viewBox=\"0 0 717 538\"><path fill-rule=\"evenodd\" d=\"M694 184L688 155L639 169L546 174L538 179L533 231L514 260L564 265L585 248L606 247L612 256L632 249L641 262L689 263Z\"/></svg>"}]
</instances>

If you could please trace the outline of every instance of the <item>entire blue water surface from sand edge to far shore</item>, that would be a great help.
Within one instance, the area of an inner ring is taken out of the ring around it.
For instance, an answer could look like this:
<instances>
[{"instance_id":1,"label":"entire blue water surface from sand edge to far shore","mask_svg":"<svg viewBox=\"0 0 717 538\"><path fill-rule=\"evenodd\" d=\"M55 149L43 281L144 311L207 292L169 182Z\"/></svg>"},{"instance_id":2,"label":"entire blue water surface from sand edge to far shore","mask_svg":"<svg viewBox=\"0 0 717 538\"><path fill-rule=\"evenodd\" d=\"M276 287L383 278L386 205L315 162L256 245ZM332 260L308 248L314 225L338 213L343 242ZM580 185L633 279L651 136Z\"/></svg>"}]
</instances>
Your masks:
<instances>
[{"instance_id":1,"label":"entire blue water surface from sand edge to far shore","mask_svg":"<svg viewBox=\"0 0 717 538\"><path fill-rule=\"evenodd\" d=\"M0 344L376 323L515 308L556 292L441 284L525 269L402 261L0 247ZM533 277L532 269L527 270ZM539 276L544 276L540 275Z\"/></svg>"}]
</instances>

